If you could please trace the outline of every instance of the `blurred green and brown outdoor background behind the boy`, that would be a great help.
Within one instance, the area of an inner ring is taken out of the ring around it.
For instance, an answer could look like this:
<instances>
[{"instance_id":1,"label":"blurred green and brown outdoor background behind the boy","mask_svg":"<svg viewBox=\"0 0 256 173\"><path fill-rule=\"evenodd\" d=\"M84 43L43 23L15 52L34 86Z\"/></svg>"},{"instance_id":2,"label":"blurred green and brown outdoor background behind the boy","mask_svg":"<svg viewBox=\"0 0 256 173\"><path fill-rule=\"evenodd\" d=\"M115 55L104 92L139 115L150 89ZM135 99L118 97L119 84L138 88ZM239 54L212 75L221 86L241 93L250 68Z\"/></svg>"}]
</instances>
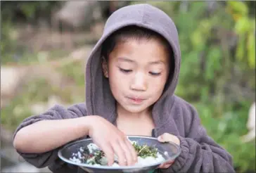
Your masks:
<instances>
[{"instance_id":1,"label":"blurred green and brown outdoor background behind the boy","mask_svg":"<svg viewBox=\"0 0 256 173\"><path fill-rule=\"evenodd\" d=\"M145 1L143 1L145 2ZM21 121L84 101L84 68L108 16L140 1L1 1L1 172L49 172L12 146ZM148 1L177 25L176 94L207 133L255 172L255 1ZM254 112L253 112L254 109Z\"/></svg>"}]
</instances>

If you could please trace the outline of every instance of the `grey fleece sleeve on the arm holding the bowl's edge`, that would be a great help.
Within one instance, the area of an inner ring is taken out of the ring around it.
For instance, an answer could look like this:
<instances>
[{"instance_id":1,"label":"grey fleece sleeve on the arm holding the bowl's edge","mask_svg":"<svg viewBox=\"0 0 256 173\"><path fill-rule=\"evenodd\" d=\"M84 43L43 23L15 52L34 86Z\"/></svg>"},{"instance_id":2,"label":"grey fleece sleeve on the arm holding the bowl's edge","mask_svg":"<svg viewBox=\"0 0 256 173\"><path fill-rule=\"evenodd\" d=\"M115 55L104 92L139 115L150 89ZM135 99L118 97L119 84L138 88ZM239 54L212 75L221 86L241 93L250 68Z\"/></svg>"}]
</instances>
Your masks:
<instances>
[{"instance_id":1,"label":"grey fleece sleeve on the arm holding the bowl's edge","mask_svg":"<svg viewBox=\"0 0 256 173\"><path fill-rule=\"evenodd\" d=\"M181 141L181 154L171 167L161 172L235 172L231 155L207 136L196 109L191 105L187 108L188 133L177 136Z\"/></svg>"}]
</instances>

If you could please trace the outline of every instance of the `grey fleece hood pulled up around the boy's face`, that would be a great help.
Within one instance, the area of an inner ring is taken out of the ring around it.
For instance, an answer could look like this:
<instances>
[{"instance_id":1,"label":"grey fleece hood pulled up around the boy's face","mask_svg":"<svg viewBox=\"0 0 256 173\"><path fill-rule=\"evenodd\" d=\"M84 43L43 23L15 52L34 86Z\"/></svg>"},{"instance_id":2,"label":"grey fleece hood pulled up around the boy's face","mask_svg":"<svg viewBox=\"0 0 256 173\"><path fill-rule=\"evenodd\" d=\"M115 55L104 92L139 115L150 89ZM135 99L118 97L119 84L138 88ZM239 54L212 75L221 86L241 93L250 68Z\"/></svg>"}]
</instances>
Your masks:
<instances>
[{"instance_id":1,"label":"grey fleece hood pulled up around the boy's face","mask_svg":"<svg viewBox=\"0 0 256 173\"><path fill-rule=\"evenodd\" d=\"M162 96L153 106L153 120L159 126L169 116L168 112L173 104L172 96L179 78L181 52L174 22L166 13L150 4L124 6L110 15L106 21L101 39L98 40L87 60L85 75L87 113L101 115L110 122L116 120L115 98L110 91L108 79L103 75L101 46L110 34L129 25L158 32L167 39L174 53L174 74L167 82Z\"/></svg>"}]
</instances>

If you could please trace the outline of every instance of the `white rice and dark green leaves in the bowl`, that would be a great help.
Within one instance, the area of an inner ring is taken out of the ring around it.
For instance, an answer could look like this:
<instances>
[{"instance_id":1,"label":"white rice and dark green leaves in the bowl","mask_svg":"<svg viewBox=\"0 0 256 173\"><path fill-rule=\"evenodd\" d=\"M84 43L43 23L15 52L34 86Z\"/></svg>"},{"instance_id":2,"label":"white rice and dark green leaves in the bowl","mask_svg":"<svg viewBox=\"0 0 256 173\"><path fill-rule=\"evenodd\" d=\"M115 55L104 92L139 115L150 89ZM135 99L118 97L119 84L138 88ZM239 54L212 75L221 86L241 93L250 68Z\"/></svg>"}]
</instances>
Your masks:
<instances>
[{"instance_id":1,"label":"white rice and dark green leaves in the bowl","mask_svg":"<svg viewBox=\"0 0 256 173\"><path fill-rule=\"evenodd\" d=\"M147 146L146 144L140 146L136 141L130 142L132 143L132 146L134 146L138 157L138 161L135 166L146 166L165 161L162 154L158 152L158 148ZM103 150L98 148L95 143L89 143L89 145L84 148L80 147L77 153L72 153L72 158L70 158L70 160L98 167L108 165L108 160L105 157ZM118 165L118 158L116 155L115 161L110 167L120 167L120 165Z\"/></svg>"}]
</instances>

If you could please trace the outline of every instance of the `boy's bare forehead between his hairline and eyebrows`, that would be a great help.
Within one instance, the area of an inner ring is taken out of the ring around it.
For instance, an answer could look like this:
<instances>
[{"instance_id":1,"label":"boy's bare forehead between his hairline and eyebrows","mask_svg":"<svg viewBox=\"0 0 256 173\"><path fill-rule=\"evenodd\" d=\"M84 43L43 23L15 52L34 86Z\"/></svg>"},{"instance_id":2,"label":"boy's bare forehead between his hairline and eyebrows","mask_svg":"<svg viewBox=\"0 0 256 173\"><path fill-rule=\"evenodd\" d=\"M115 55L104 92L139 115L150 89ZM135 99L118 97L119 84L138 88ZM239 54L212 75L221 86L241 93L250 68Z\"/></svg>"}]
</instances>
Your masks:
<instances>
[{"instance_id":1,"label":"boy's bare forehead between his hairline and eyebrows","mask_svg":"<svg viewBox=\"0 0 256 173\"><path fill-rule=\"evenodd\" d=\"M117 60L129 58L135 62L169 61L169 53L158 39L127 39L119 41L110 53Z\"/></svg>"}]
</instances>

